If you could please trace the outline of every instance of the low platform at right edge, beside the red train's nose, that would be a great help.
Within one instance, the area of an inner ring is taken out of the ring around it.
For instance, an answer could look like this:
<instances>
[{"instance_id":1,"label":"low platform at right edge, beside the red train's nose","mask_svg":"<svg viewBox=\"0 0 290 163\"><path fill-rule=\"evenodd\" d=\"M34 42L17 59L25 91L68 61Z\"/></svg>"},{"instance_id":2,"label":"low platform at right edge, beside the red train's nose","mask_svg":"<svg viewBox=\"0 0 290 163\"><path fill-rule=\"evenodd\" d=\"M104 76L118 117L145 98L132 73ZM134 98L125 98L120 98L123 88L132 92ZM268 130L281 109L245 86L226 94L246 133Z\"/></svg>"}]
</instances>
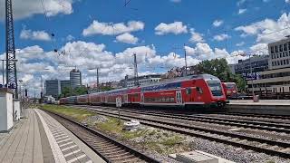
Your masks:
<instances>
[{"instance_id":1,"label":"low platform at right edge, beside the red train's nose","mask_svg":"<svg viewBox=\"0 0 290 163\"><path fill-rule=\"evenodd\" d=\"M231 100L226 108L228 112L290 116L289 100Z\"/></svg>"}]
</instances>

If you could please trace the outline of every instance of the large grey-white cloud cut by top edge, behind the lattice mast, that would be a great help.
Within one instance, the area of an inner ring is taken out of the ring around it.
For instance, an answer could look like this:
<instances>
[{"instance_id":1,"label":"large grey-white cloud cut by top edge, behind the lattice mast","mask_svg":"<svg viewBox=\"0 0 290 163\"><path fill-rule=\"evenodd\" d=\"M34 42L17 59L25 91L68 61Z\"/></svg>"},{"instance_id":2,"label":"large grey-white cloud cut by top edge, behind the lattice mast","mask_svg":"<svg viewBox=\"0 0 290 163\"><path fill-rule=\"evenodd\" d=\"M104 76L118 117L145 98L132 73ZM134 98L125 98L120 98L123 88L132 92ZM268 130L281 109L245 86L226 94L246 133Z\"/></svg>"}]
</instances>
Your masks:
<instances>
[{"instance_id":1,"label":"large grey-white cloud cut by top edge, behind the lattice mast","mask_svg":"<svg viewBox=\"0 0 290 163\"><path fill-rule=\"evenodd\" d=\"M14 19L23 19L34 14L43 14L43 6L47 16L54 16L56 14L72 14L73 2L73 0L45 0L42 5L41 1L14 0ZM0 19L5 19L5 1L0 1Z\"/></svg>"}]
</instances>

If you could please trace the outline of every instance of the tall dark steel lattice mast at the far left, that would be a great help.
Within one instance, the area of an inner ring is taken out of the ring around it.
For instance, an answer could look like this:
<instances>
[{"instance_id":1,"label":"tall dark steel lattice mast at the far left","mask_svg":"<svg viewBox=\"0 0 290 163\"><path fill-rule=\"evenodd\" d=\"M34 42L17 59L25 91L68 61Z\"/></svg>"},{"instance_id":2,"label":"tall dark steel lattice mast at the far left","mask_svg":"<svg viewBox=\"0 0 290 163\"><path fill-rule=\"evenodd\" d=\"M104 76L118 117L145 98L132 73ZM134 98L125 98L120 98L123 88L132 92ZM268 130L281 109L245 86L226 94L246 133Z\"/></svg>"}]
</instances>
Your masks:
<instances>
[{"instance_id":1,"label":"tall dark steel lattice mast at the far left","mask_svg":"<svg viewBox=\"0 0 290 163\"><path fill-rule=\"evenodd\" d=\"M14 98L18 99L12 0L5 1L5 16L6 83L8 88L14 89Z\"/></svg>"}]
</instances>

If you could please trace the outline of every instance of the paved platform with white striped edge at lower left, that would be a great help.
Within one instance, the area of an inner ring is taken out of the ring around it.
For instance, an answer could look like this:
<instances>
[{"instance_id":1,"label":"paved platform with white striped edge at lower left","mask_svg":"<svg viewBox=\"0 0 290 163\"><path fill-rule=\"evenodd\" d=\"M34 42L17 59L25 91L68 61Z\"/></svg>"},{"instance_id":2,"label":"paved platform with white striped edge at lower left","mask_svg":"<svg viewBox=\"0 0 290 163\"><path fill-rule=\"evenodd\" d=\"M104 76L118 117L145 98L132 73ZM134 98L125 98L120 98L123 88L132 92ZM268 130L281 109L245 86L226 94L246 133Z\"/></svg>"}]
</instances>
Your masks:
<instances>
[{"instance_id":1,"label":"paved platform with white striped edge at lower left","mask_svg":"<svg viewBox=\"0 0 290 163\"><path fill-rule=\"evenodd\" d=\"M43 110L28 109L12 130L0 133L0 162L105 162Z\"/></svg>"}]
</instances>

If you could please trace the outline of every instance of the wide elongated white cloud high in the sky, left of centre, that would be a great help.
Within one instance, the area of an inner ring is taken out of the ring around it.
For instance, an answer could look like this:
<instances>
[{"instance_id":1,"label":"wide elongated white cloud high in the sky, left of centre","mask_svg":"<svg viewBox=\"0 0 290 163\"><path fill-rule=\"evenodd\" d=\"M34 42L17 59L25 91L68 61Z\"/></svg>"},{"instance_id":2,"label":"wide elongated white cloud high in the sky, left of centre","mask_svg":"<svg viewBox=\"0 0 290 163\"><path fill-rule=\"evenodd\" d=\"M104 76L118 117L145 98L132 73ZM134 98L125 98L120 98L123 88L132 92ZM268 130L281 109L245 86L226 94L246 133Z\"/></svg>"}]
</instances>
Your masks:
<instances>
[{"instance_id":1,"label":"wide elongated white cloud high in the sky, left of centre","mask_svg":"<svg viewBox=\"0 0 290 163\"><path fill-rule=\"evenodd\" d=\"M102 23L94 20L92 24L82 31L83 36L90 36L93 34L102 35L117 35L124 33L131 33L135 31L141 31L144 29L145 24L140 21L130 21L127 24L124 23Z\"/></svg>"}]
</instances>

